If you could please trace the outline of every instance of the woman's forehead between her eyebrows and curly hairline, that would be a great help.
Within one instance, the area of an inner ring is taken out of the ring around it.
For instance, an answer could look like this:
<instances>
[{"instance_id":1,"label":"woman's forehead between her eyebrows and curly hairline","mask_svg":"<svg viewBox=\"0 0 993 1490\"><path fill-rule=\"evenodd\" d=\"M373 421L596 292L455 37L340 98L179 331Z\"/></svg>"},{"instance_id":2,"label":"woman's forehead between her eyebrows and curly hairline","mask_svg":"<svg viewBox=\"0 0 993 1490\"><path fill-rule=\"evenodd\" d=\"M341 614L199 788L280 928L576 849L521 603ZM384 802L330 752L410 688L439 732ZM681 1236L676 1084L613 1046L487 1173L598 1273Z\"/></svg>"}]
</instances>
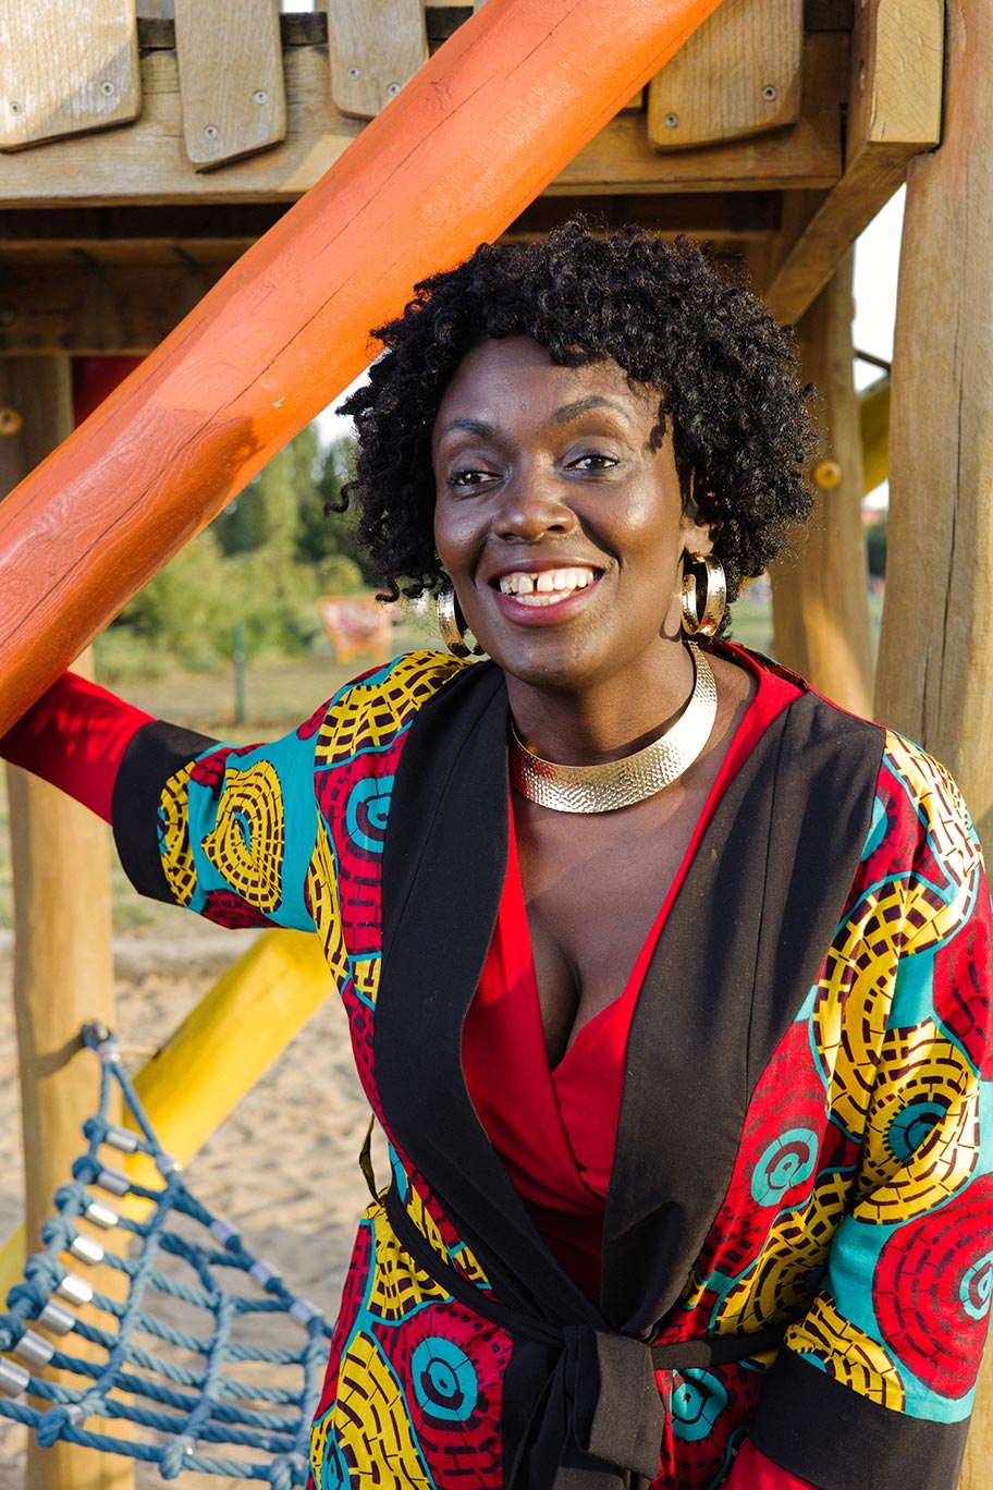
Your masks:
<instances>
[{"instance_id":1,"label":"woman's forehead between her eyebrows and curly hairline","mask_svg":"<svg viewBox=\"0 0 993 1490\"><path fill-rule=\"evenodd\" d=\"M658 395L628 383L612 359L560 367L530 337L481 341L459 364L438 408L435 437L453 420L540 423L584 399L604 399L639 422L655 417Z\"/></svg>"}]
</instances>

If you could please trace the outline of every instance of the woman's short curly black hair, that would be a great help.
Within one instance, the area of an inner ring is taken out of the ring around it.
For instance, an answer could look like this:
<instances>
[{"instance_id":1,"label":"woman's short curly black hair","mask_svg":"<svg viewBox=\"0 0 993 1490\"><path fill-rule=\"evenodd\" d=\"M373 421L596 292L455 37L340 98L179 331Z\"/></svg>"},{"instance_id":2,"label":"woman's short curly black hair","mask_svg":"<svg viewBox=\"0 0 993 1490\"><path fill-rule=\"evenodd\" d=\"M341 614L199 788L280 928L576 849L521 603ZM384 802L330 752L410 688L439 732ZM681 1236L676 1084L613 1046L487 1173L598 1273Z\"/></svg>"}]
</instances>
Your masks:
<instances>
[{"instance_id":1,"label":"woman's short curly black hair","mask_svg":"<svg viewBox=\"0 0 993 1490\"><path fill-rule=\"evenodd\" d=\"M566 367L612 358L658 393L683 502L715 526L729 600L810 511L802 468L814 435L791 341L686 238L668 244L636 226L596 237L578 216L537 243L484 243L417 285L374 335L387 352L342 405L359 432L344 502L357 499L357 538L392 599L445 583L432 429L459 364L488 337L531 337Z\"/></svg>"}]
</instances>

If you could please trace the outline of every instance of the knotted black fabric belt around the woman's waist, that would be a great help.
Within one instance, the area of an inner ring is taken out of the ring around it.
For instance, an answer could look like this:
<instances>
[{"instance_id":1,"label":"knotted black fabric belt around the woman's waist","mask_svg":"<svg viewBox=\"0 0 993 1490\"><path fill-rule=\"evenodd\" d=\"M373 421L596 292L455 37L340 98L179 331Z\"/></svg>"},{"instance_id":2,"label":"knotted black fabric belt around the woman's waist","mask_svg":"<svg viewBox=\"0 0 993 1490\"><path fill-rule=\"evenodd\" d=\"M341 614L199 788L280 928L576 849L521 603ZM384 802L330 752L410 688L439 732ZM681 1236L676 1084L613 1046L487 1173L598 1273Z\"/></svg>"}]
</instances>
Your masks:
<instances>
[{"instance_id":1,"label":"knotted black fabric belt around the woman's waist","mask_svg":"<svg viewBox=\"0 0 993 1490\"><path fill-rule=\"evenodd\" d=\"M782 1344L786 1325L658 1345L588 1323L554 1326L488 1298L438 1256L392 1188L387 1219L417 1266L453 1298L515 1337L533 1408L506 1445L505 1490L648 1490L658 1475L665 1404L657 1369L703 1369Z\"/></svg>"}]
</instances>

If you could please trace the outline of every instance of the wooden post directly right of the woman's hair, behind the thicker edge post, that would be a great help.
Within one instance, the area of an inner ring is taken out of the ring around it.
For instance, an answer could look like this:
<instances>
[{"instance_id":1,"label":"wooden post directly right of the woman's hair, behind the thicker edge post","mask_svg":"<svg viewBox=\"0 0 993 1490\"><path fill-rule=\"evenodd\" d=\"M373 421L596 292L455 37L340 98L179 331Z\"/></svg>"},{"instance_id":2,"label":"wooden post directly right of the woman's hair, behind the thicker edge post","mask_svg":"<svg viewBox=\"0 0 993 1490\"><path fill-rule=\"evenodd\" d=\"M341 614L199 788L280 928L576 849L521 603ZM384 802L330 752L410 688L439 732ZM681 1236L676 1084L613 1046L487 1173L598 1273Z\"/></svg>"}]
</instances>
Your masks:
<instances>
[{"instance_id":1,"label":"wooden post directly right of the woman's hair, behind the thicker edge post","mask_svg":"<svg viewBox=\"0 0 993 1490\"><path fill-rule=\"evenodd\" d=\"M862 532L862 443L852 378L852 253L798 326L801 375L819 392L814 511L773 569L776 656L853 714L872 711Z\"/></svg>"}]
</instances>

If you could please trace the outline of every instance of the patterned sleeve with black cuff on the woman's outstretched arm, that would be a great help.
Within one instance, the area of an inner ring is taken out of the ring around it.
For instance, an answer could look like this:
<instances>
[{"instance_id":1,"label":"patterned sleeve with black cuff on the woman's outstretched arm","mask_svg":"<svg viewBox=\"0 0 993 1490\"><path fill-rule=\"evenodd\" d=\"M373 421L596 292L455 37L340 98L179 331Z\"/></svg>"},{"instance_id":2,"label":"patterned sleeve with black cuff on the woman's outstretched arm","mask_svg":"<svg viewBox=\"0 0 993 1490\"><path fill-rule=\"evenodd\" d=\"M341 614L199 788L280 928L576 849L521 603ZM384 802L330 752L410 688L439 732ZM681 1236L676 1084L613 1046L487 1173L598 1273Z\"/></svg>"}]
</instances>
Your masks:
<instances>
[{"instance_id":1,"label":"patterned sleeve with black cuff on the woman's outstretched arm","mask_svg":"<svg viewBox=\"0 0 993 1490\"><path fill-rule=\"evenodd\" d=\"M220 745L162 723L141 729L113 794L134 887L220 925L313 931L314 748L326 711L269 745Z\"/></svg>"}]
</instances>

